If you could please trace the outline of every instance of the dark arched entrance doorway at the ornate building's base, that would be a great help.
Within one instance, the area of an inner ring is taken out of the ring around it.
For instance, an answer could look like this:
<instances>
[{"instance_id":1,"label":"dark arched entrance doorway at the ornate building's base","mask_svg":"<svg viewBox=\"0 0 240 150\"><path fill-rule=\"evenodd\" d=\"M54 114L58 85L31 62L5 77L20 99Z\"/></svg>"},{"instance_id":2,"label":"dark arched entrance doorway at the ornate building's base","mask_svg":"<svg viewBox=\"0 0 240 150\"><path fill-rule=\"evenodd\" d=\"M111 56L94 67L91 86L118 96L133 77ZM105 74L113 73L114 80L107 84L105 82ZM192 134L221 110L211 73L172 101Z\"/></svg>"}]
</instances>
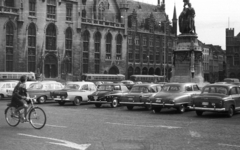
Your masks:
<instances>
[{"instance_id":1,"label":"dark arched entrance doorway at the ornate building's base","mask_svg":"<svg viewBox=\"0 0 240 150\"><path fill-rule=\"evenodd\" d=\"M45 78L57 78L58 76L58 61L54 55L47 55L44 62Z\"/></svg>"}]
</instances>

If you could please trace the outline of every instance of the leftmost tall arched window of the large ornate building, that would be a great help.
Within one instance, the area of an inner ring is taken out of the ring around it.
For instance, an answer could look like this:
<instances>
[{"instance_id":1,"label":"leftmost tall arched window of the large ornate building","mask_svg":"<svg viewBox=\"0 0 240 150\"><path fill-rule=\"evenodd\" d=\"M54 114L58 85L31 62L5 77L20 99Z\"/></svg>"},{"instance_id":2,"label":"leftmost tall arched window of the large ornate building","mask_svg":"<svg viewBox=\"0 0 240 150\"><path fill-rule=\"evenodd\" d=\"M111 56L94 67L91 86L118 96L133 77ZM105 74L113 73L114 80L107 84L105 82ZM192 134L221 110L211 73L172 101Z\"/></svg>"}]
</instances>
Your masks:
<instances>
[{"instance_id":1,"label":"leftmost tall arched window of the large ornate building","mask_svg":"<svg viewBox=\"0 0 240 150\"><path fill-rule=\"evenodd\" d=\"M11 22L6 25L6 71L13 71L14 27Z\"/></svg>"}]
</instances>

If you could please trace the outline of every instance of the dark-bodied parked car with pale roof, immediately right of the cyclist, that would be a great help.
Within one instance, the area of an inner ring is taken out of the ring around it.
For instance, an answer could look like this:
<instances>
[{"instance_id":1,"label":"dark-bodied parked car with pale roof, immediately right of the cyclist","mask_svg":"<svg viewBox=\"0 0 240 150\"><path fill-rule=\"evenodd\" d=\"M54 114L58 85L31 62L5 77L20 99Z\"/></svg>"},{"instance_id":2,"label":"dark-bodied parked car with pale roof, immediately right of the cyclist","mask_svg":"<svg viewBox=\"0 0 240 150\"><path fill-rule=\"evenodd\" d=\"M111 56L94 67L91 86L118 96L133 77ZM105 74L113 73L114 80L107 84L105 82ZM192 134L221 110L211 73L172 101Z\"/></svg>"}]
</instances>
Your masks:
<instances>
[{"instance_id":1,"label":"dark-bodied parked car with pale roof, immediately right of the cyclist","mask_svg":"<svg viewBox=\"0 0 240 150\"><path fill-rule=\"evenodd\" d=\"M63 89L60 82L42 81L32 83L27 89L30 97L36 97L38 103L45 103L46 100L52 99L50 92Z\"/></svg>"}]
</instances>

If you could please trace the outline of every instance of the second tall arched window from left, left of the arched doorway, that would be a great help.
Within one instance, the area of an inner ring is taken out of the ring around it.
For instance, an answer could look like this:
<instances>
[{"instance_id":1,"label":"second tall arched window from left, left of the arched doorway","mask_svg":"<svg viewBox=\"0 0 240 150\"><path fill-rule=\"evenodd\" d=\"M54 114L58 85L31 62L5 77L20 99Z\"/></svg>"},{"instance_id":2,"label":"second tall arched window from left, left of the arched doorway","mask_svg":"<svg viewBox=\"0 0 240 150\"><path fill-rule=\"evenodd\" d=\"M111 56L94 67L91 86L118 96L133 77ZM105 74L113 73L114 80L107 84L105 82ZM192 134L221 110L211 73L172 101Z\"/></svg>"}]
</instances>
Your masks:
<instances>
[{"instance_id":1,"label":"second tall arched window from left, left of the arched doorway","mask_svg":"<svg viewBox=\"0 0 240 150\"><path fill-rule=\"evenodd\" d=\"M28 28L28 71L36 71L36 28L33 23Z\"/></svg>"}]
</instances>

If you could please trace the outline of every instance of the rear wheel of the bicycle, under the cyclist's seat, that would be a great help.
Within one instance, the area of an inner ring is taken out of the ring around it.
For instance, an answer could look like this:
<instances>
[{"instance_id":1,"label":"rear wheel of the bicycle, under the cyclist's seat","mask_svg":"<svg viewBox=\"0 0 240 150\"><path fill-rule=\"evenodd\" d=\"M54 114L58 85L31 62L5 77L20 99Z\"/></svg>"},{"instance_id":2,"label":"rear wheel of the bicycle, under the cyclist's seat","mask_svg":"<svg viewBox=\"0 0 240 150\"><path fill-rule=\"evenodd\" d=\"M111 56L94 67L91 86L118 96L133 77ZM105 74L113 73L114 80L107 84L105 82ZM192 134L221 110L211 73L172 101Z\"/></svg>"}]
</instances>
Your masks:
<instances>
[{"instance_id":1,"label":"rear wheel of the bicycle, under the cyclist's seat","mask_svg":"<svg viewBox=\"0 0 240 150\"><path fill-rule=\"evenodd\" d=\"M5 110L6 122L12 127L16 127L20 123L19 111L17 111L17 113L15 113L15 111L16 108L12 106L8 107Z\"/></svg>"}]
</instances>

